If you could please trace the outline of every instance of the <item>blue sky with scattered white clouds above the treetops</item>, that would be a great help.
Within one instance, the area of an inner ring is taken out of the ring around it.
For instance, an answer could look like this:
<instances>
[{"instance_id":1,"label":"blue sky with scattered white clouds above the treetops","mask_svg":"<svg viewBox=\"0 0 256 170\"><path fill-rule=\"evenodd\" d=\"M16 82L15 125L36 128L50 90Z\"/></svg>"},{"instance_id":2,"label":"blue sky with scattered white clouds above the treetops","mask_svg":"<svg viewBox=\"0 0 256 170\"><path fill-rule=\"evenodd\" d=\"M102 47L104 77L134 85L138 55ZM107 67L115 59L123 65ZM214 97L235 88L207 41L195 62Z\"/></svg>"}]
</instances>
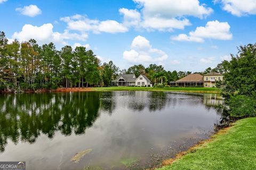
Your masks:
<instances>
[{"instance_id":1,"label":"blue sky with scattered white clouds above the treetops","mask_svg":"<svg viewBox=\"0 0 256 170\"><path fill-rule=\"evenodd\" d=\"M0 31L10 43L85 46L120 69L198 72L256 43L256 0L0 0Z\"/></svg>"}]
</instances>

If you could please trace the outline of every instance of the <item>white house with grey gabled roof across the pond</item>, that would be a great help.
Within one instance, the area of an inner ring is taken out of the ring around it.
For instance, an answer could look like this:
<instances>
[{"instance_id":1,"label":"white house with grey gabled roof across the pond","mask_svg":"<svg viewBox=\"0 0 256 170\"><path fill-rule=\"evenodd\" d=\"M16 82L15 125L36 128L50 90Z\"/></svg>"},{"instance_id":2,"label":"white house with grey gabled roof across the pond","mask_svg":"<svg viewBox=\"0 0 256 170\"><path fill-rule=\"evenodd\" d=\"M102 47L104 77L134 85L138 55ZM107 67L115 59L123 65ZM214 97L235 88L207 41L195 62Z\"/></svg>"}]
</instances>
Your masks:
<instances>
[{"instance_id":1,"label":"white house with grey gabled roof across the pond","mask_svg":"<svg viewBox=\"0 0 256 170\"><path fill-rule=\"evenodd\" d=\"M152 86L150 80L146 75L139 75L138 78L135 74L120 74L116 80L111 81L111 86Z\"/></svg>"}]
</instances>

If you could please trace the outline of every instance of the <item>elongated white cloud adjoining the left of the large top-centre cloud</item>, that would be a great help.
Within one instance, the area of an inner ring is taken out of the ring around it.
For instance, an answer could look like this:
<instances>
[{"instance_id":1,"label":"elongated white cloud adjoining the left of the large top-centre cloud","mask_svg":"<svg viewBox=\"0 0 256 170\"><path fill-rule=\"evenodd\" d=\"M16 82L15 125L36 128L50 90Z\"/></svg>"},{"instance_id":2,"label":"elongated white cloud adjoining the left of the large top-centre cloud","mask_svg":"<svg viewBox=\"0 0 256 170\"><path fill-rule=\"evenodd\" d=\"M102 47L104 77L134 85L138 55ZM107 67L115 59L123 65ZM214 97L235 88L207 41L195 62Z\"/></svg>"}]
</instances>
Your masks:
<instances>
[{"instance_id":1,"label":"elongated white cloud adjoining the left of the large top-centre cloud","mask_svg":"<svg viewBox=\"0 0 256 170\"><path fill-rule=\"evenodd\" d=\"M122 24L114 20L91 20L86 16L79 14L66 16L60 19L68 24L68 29L77 31L92 31L93 33L108 32L118 33L127 32L128 29Z\"/></svg>"}]
</instances>

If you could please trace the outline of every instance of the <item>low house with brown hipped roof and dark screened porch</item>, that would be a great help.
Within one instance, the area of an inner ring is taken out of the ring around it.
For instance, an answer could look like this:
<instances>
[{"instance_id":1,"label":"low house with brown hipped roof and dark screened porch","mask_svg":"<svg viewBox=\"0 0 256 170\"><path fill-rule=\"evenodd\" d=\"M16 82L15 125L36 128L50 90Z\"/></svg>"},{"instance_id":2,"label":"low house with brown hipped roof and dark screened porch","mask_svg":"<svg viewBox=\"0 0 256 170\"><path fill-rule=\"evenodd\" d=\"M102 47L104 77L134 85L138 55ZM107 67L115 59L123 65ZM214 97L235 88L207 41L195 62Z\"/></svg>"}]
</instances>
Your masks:
<instances>
[{"instance_id":1,"label":"low house with brown hipped roof and dark screened porch","mask_svg":"<svg viewBox=\"0 0 256 170\"><path fill-rule=\"evenodd\" d=\"M189 74L180 80L171 82L171 86L204 86L204 77L201 74Z\"/></svg>"}]
</instances>

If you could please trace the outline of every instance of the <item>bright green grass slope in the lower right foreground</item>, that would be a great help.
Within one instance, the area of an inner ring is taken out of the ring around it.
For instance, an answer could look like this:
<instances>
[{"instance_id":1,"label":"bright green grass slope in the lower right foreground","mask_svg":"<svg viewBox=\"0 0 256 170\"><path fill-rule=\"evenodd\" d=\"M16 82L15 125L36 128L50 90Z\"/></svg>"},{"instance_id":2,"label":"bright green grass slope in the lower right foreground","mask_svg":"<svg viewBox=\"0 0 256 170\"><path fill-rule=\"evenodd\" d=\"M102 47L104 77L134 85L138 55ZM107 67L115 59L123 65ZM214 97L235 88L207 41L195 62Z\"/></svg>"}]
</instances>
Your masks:
<instances>
[{"instance_id":1,"label":"bright green grass slope in the lower right foreground","mask_svg":"<svg viewBox=\"0 0 256 170\"><path fill-rule=\"evenodd\" d=\"M226 133L158 170L169 169L256 169L256 118L237 121Z\"/></svg>"}]
</instances>

